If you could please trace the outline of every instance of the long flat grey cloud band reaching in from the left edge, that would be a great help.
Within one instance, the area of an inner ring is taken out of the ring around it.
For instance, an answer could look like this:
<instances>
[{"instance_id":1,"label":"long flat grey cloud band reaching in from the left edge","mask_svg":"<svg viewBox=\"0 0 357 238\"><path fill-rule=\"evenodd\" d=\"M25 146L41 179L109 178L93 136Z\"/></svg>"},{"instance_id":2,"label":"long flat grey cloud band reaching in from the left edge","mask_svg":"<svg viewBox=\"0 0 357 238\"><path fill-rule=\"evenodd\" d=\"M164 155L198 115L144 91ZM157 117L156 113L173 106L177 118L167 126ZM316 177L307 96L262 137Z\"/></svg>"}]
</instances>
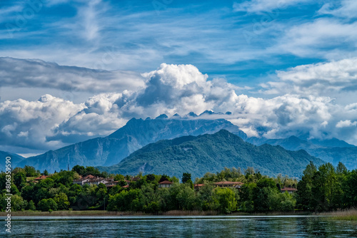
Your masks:
<instances>
[{"instance_id":1,"label":"long flat grey cloud band reaching in from the left edge","mask_svg":"<svg viewBox=\"0 0 357 238\"><path fill-rule=\"evenodd\" d=\"M0 74L1 86L14 88L55 88L101 93L135 90L144 86L144 78L131 71L101 71L9 57L0 58Z\"/></svg>"}]
</instances>

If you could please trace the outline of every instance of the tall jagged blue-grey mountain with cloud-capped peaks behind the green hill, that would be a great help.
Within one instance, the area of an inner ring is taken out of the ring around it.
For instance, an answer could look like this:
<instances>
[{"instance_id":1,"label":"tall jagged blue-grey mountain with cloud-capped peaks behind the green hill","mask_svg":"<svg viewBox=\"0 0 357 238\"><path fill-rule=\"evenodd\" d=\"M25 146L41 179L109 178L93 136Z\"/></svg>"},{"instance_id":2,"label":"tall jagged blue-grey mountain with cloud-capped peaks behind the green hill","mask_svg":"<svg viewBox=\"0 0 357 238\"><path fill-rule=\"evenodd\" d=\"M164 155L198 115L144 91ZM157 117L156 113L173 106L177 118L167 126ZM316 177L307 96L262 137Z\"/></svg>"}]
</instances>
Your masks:
<instances>
[{"instance_id":1,"label":"tall jagged blue-grey mountain with cloud-capped peaks behind the green hill","mask_svg":"<svg viewBox=\"0 0 357 238\"><path fill-rule=\"evenodd\" d=\"M228 120L205 120L192 118L191 115L189 114L189 118L180 118L178 115L173 118L160 115L146 120L132 118L124 127L105 138L94 138L58 150L50 150L42 155L27 158L20 162L19 166L31 165L41 171L54 172L67 170L68 166L74 165L115 165L149 143L183 135L216 133L221 129L246 138L246 134Z\"/></svg>"}]
</instances>

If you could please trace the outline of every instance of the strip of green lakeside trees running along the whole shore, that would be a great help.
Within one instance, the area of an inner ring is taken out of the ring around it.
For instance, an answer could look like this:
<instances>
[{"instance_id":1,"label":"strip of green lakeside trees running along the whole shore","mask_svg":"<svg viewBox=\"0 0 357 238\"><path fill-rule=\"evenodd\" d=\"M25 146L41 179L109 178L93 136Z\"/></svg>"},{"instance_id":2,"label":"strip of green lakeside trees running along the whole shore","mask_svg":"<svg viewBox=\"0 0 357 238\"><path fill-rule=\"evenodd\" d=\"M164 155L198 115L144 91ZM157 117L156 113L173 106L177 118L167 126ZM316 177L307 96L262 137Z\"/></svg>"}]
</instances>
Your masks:
<instances>
[{"instance_id":1,"label":"strip of green lakeside trees running along the whole shore","mask_svg":"<svg viewBox=\"0 0 357 238\"><path fill-rule=\"evenodd\" d=\"M316 167L310 162L298 180L278 175L268 177L254 171L225 168L221 172L207 172L191 180L191 174L177 177L168 175L109 175L94 167L76 165L71 171L54 172L35 182L40 173L34 167L16 167L11 174L11 211L39 210L107 210L134 211L159 214L169 210L231 212L325 212L357 207L357 170L348 171L340 162L337 167L326 163ZM114 187L78 185L73 180L80 176L113 177L119 181ZM173 182L169 188L159 188L159 182ZM216 187L215 182L243 182L238 189ZM125 186L125 185L129 186ZM203 184L199 190L194 184ZM293 187L293 194L281 192L282 187ZM0 210L6 209L6 173L0 174Z\"/></svg>"}]
</instances>

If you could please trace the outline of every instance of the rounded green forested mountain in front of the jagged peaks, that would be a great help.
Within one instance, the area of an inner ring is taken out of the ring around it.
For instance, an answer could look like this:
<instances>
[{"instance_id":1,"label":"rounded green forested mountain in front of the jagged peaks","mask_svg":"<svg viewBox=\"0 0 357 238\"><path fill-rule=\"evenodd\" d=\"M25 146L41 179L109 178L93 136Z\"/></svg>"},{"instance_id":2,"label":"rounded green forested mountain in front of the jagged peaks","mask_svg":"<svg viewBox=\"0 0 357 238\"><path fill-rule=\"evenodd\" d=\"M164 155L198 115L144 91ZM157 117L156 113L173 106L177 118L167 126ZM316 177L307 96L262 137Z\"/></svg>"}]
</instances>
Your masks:
<instances>
[{"instance_id":1,"label":"rounded green forested mountain in front of the jagged peaks","mask_svg":"<svg viewBox=\"0 0 357 238\"><path fill-rule=\"evenodd\" d=\"M224 167L254 167L263 175L281 173L298 177L310 161L315 165L323 164L323 160L304 150L290 151L268 144L256 146L227 130L220 130L214 134L160 140L136 150L118 165L99 167L99 170L124 175L143 172L176 177L190 172L193 177L201 177Z\"/></svg>"}]
</instances>

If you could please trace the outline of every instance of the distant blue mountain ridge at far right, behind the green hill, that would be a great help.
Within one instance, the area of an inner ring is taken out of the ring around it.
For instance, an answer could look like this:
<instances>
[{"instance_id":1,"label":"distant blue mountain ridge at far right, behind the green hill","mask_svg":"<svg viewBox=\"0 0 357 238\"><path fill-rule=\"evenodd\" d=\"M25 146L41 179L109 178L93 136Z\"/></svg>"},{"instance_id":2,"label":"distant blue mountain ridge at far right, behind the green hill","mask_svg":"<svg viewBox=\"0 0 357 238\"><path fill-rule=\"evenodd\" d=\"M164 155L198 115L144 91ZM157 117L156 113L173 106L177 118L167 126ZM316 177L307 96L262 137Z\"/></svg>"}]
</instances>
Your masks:
<instances>
[{"instance_id":1,"label":"distant blue mountain ridge at far right, behind the green hill","mask_svg":"<svg viewBox=\"0 0 357 238\"><path fill-rule=\"evenodd\" d=\"M280 145L286 150L306 150L310 155L319 157L321 160L338 165L343 162L348 170L357 169L357 147L343 140L332 138L329 140L302 140L296 136L285 139L248 138L254 145Z\"/></svg>"}]
</instances>

